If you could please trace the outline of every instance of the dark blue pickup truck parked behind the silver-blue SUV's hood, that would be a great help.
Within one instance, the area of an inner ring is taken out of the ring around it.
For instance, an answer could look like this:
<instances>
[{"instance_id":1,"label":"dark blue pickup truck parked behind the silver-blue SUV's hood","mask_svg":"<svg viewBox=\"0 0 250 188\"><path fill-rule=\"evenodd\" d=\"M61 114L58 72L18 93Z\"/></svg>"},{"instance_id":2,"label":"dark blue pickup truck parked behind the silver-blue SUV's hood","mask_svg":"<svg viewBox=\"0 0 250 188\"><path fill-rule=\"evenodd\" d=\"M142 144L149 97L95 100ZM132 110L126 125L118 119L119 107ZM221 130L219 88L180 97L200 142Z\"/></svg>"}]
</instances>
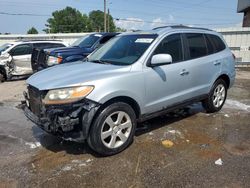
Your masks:
<instances>
[{"instance_id":1,"label":"dark blue pickup truck parked behind the silver-blue SUV's hood","mask_svg":"<svg viewBox=\"0 0 250 188\"><path fill-rule=\"evenodd\" d=\"M37 57L34 57L34 59L37 59L37 61L32 62L33 71L36 72L53 65L83 60L116 35L118 33L94 33L76 40L70 47L38 50L39 52L35 50L34 54Z\"/></svg>"}]
</instances>

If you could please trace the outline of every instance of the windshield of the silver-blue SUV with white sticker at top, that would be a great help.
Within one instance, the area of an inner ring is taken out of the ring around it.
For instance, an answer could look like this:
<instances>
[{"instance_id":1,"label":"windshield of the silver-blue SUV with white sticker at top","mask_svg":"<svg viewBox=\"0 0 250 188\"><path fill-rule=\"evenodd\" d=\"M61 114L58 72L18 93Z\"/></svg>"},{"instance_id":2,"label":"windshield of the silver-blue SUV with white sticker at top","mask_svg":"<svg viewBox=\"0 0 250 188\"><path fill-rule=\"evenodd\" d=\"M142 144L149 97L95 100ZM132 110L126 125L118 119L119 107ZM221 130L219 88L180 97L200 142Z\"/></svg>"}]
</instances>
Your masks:
<instances>
[{"instance_id":1,"label":"windshield of the silver-blue SUV with white sticker at top","mask_svg":"<svg viewBox=\"0 0 250 188\"><path fill-rule=\"evenodd\" d=\"M136 62L157 37L156 34L117 36L88 57L90 62L131 65Z\"/></svg>"}]
</instances>

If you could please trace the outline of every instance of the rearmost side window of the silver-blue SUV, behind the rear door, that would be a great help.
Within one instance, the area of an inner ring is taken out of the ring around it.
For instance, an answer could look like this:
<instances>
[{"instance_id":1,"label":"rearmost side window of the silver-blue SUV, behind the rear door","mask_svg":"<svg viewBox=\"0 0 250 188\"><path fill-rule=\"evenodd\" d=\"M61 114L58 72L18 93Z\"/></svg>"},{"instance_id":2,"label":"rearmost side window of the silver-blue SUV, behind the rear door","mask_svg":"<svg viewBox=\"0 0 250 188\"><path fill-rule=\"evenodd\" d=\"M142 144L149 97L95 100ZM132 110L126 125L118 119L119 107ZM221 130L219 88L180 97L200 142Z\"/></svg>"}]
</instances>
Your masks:
<instances>
[{"instance_id":1,"label":"rearmost side window of the silver-blue SUV, behind the rear door","mask_svg":"<svg viewBox=\"0 0 250 188\"><path fill-rule=\"evenodd\" d=\"M216 35L206 34L206 41L209 54L220 52L226 48L221 38Z\"/></svg>"}]
</instances>

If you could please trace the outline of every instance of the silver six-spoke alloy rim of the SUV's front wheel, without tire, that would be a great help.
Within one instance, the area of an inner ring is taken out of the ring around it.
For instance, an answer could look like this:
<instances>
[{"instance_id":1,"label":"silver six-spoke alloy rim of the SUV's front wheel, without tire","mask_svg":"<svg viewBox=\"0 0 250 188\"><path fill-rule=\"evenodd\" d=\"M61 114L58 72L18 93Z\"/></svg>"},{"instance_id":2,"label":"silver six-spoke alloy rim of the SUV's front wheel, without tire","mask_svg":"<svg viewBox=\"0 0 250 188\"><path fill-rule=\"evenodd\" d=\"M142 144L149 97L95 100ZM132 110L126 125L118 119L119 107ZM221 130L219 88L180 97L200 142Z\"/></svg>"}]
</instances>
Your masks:
<instances>
[{"instance_id":1,"label":"silver six-spoke alloy rim of the SUV's front wheel, without tire","mask_svg":"<svg viewBox=\"0 0 250 188\"><path fill-rule=\"evenodd\" d=\"M102 143L111 149L123 145L130 136L132 122L129 115L123 111L117 111L109 115L101 129Z\"/></svg>"}]
</instances>

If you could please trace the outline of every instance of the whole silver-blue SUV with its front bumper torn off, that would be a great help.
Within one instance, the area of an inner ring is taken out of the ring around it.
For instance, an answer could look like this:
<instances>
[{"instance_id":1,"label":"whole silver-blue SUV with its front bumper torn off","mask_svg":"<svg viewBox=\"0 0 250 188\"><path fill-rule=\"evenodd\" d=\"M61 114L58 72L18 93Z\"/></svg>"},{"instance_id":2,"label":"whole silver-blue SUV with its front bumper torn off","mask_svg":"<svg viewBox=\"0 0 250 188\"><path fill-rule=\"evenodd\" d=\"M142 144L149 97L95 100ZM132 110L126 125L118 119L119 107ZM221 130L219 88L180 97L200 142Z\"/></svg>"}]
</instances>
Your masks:
<instances>
[{"instance_id":1,"label":"whole silver-blue SUV with its front bumper torn off","mask_svg":"<svg viewBox=\"0 0 250 188\"><path fill-rule=\"evenodd\" d=\"M235 61L212 30L171 26L124 33L86 62L31 76L24 112L46 132L87 140L102 155L124 150L136 124L202 101L219 111L235 79Z\"/></svg>"}]
</instances>

